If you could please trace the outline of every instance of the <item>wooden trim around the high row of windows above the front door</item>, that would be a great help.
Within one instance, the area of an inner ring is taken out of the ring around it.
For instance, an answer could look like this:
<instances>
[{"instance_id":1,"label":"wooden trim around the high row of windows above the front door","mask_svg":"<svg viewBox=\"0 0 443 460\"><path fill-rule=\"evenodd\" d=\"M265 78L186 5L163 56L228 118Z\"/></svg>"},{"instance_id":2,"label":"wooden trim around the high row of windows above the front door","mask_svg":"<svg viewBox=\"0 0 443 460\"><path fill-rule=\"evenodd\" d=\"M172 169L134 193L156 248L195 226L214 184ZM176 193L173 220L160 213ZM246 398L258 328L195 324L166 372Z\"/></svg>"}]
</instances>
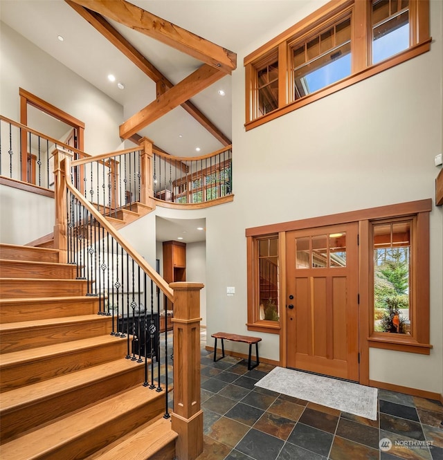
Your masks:
<instances>
[{"instance_id":1,"label":"wooden trim around the high row of windows above the front door","mask_svg":"<svg viewBox=\"0 0 443 460\"><path fill-rule=\"evenodd\" d=\"M244 58L244 66L246 70L246 122L244 127L246 131L257 126L263 125L266 122L274 120L293 110L300 109L311 102L315 102L327 95L347 88L357 82L361 82L368 77L377 75L386 71L388 68L397 66L403 62L412 59L422 53L426 53L431 49L431 37L429 34L429 0L410 0L410 47L401 53L398 53L388 59L385 59L377 64L371 64L371 41L369 33L369 12L368 1L357 0L332 0L326 3L322 8L319 8L311 15L302 19L291 28L271 39L253 53ZM292 72L289 69L291 58L289 57L289 49L295 42L301 42L303 39L315 33L326 24L343 16L344 13L351 14L352 24L352 68L351 75L339 80L338 82L326 86L323 89L305 95L298 100L288 100L287 95L293 93L292 89ZM278 48L279 56L279 107L264 116L253 118L257 113L255 111L255 86L253 86L255 64L262 61L264 55L271 53L271 50ZM285 80L282 80L282 77ZM282 90L284 89L284 92ZM252 119L253 118L253 119Z\"/></svg>"}]
</instances>

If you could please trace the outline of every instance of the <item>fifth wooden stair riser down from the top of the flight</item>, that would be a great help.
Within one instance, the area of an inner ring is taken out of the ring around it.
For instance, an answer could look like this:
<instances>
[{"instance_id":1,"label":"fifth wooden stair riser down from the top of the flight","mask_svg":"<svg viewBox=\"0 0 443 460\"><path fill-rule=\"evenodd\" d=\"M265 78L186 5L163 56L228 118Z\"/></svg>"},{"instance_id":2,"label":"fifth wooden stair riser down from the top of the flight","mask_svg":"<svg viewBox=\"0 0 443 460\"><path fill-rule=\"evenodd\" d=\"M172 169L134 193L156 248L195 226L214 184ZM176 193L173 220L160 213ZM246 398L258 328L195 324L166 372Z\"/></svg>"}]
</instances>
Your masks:
<instances>
[{"instance_id":1,"label":"fifth wooden stair riser down from the top of the flight","mask_svg":"<svg viewBox=\"0 0 443 460\"><path fill-rule=\"evenodd\" d=\"M100 320L91 320L90 322L51 324L51 326L35 326L19 331L3 331L0 333L0 352L12 353L13 351L110 334L112 318L99 318Z\"/></svg>"}]
</instances>

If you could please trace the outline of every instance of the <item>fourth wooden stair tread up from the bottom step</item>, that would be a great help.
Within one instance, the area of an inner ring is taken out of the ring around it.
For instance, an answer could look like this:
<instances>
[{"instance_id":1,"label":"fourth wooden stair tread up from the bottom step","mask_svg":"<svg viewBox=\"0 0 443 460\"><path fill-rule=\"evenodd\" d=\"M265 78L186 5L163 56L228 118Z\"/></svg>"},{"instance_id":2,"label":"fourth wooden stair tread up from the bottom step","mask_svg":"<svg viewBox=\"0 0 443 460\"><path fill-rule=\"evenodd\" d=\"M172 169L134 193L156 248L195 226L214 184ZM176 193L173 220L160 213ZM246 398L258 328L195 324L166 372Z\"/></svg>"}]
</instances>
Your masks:
<instances>
[{"instance_id":1,"label":"fourth wooden stair tread up from the bottom step","mask_svg":"<svg viewBox=\"0 0 443 460\"><path fill-rule=\"evenodd\" d=\"M80 350L87 350L100 345L116 342L117 340L127 340L118 338L115 335L99 335L98 337L74 340L72 342L48 345L47 347L32 348L23 351L12 351L1 355L0 369L10 365L24 365L37 359L51 358L60 354L75 353Z\"/></svg>"}]
</instances>

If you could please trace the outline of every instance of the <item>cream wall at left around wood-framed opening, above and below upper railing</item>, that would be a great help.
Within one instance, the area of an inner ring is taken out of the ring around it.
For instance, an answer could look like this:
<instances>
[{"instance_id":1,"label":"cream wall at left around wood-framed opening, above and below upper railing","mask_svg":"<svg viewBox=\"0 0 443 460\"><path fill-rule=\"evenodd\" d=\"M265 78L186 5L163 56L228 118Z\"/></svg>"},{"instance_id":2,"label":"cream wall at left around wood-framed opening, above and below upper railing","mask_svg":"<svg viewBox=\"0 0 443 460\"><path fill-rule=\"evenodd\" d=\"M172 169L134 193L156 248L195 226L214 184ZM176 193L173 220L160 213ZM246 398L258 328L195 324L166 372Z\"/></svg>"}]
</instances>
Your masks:
<instances>
[{"instance_id":1,"label":"cream wall at left around wood-framed opening, above and below upper railing","mask_svg":"<svg viewBox=\"0 0 443 460\"><path fill-rule=\"evenodd\" d=\"M123 148L118 135L123 107L3 22L0 24L0 62L1 115L19 122L21 87L82 120L87 153ZM24 244L53 231L52 199L29 196L4 186L0 193L2 243Z\"/></svg>"}]
</instances>

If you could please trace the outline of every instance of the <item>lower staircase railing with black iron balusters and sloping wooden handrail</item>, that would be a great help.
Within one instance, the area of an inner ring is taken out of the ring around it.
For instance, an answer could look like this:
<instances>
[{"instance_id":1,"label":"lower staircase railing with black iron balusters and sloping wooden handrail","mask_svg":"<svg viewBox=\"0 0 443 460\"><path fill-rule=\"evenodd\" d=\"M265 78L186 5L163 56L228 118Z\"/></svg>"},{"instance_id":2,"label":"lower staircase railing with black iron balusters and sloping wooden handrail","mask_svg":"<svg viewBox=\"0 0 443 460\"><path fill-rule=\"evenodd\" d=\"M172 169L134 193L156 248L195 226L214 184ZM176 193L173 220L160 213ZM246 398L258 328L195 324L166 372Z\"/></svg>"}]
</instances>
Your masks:
<instances>
[{"instance_id":1,"label":"lower staircase railing with black iron balusters and sloping wooden handrail","mask_svg":"<svg viewBox=\"0 0 443 460\"><path fill-rule=\"evenodd\" d=\"M86 279L87 295L98 297L98 314L112 318L111 335L127 341L125 358L144 362L143 385L165 392L168 418L173 350L167 332L161 343L159 318L161 296L173 302L173 292L69 181L66 185L67 261L77 267L77 279Z\"/></svg>"}]
</instances>

